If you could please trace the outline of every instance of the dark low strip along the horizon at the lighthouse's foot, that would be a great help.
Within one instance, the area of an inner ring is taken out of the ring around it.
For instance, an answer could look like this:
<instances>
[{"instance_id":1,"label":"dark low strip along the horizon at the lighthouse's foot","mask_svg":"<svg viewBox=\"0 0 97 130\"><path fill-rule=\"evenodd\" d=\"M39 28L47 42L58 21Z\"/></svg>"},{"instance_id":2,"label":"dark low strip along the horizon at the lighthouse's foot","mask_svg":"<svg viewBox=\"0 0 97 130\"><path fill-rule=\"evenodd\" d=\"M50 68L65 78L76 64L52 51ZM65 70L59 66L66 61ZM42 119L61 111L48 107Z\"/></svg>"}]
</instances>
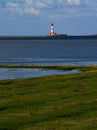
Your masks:
<instances>
[{"instance_id":1,"label":"dark low strip along the horizon at the lighthouse's foot","mask_svg":"<svg viewBox=\"0 0 97 130\"><path fill-rule=\"evenodd\" d=\"M97 39L97 34L93 35L79 35L79 36L73 36L73 35L67 35L67 34L60 34L60 35L44 35L44 36L0 36L0 40L7 40L7 39L32 39L32 40L79 40L79 39Z\"/></svg>"}]
</instances>

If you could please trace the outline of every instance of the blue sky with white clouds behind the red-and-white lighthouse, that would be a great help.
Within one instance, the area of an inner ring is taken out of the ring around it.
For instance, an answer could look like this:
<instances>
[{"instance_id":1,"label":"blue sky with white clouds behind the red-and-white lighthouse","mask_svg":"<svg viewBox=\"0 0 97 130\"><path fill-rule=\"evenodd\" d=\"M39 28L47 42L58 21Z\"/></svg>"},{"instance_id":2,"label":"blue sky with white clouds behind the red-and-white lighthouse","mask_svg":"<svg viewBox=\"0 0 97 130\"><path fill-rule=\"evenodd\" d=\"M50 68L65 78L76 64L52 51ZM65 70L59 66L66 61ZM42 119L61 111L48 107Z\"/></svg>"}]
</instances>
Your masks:
<instances>
[{"instance_id":1,"label":"blue sky with white clouds behind the red-and-white lighthouse","mask_svg":"<svg viewBox=\"0 0 97 130\"><path fill-rule=\"evenodd\" d=\"M0 0L0 35L97 34L97 0Z\"/></svg>"}]
</instances>

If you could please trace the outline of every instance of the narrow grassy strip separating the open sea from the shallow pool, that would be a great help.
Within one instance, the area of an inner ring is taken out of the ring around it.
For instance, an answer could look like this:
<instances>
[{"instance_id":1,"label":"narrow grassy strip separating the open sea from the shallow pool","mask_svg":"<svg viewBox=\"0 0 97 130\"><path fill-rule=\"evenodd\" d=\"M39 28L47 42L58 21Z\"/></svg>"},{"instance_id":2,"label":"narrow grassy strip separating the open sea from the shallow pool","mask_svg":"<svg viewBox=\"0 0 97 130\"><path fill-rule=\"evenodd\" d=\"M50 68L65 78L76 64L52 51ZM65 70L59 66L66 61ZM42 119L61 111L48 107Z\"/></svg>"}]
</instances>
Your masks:
<instances>
[{"instance_id":1,"label":"narrow grassy strip separating the open sea from the shallow pool","mask_svg":"<svg viewBox=\"0 0 97 130\"><path fill-rule=\"evenodd\" d=\"M55 69L55 70L74 70L79 69L81 71L87 71L87 70L96 70L97 65L19 65L19 64L0 64L0 68L38 68L38 69Z\"/></svg>"}]
</instances>

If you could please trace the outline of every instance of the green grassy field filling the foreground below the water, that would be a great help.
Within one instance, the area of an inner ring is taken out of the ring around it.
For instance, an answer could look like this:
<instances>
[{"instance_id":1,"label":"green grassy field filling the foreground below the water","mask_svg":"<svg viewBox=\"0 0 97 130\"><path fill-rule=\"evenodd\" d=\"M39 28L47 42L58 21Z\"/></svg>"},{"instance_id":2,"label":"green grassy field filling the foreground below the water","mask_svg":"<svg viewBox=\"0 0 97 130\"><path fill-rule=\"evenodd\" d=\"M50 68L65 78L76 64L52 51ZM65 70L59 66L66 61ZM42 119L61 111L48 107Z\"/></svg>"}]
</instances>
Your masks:
<instances>
[{"instance_id":1,"label":"green grassy field filling the foreground below the water","mask_svg":"<svg viewBox=\"0 0 97 130\"><path fill-rule=\"evenodd\" d=\"M97 130L97 66L55 68L82 73L0 81L0 130Z\"/></svg>"}]
</instances>

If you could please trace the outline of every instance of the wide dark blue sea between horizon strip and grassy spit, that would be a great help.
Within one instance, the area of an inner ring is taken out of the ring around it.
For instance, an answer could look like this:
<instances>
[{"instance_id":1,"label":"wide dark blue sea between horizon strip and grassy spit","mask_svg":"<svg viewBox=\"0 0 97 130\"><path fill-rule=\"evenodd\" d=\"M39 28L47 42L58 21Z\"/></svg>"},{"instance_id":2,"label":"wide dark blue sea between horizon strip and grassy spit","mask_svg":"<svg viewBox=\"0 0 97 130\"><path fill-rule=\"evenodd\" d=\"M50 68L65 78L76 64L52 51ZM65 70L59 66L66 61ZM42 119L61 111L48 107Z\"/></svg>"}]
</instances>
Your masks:
<instances>
[{"instance_id":1,"label":"wide dark blue sea between horizon strip and grassy spit","mask_svg":"<svg viewBox=\"0 0 97 130\"><path fill-rule=\"evenodd\" d=\"M0 64L97 64L97 40L0 40Z\"/></svg>"}]
</instances>

